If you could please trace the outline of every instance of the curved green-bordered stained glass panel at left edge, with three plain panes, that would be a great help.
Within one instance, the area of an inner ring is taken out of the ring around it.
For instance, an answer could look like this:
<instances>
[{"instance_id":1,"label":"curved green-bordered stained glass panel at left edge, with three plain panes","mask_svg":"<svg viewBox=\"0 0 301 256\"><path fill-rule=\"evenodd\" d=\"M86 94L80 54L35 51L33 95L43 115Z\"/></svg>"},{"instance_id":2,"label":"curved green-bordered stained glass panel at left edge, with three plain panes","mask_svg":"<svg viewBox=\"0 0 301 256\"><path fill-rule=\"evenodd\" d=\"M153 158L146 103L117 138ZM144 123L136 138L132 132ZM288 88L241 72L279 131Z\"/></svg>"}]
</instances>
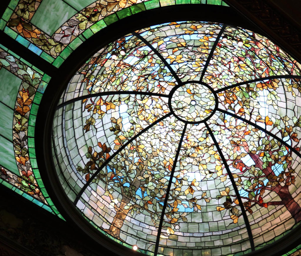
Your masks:
<instances>
[{"instance_id":1,"label":"curved green-bordered stained glass panel at left edge, with three plain panes","mask_svg":"<svg viewBox=\"0 0 301 256\"><path fill-rule=\"evenodd\" d=\"M50 77L0 45L0 183L58 215L36 161L36 114Z\"/></svg>"}]
</instances>

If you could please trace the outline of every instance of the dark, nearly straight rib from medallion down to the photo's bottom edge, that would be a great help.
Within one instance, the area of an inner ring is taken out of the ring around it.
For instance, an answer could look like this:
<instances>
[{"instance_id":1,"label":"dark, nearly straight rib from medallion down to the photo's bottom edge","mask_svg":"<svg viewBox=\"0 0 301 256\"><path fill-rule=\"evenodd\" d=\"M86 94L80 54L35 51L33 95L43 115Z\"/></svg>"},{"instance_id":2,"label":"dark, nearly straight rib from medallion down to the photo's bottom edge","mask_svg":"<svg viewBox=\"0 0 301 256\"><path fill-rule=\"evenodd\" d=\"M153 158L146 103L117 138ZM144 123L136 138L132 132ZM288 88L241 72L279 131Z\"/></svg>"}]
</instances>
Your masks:
<instances>
[{"instance_id":1,"label":"dark, nearly straight rib from medallion down to the photo's bottom edge","mask_svg":"<svg viewBox=\"0 0 301 256\"><path fill-rule=\"evenodd\" d=\"M187 123L185 123L184 129L183 129L183 132L182 132L182 136L181 136L181 139L180 139L180 142L179 142L179 145L178 145L178 149L177 149L177 152L175 154L175 160L173 161L172 170L170 172L169 183L168 183L168 187L167 187L167 190L166 190L166 196L165 196L165 199L164 199L162 214L161 214L159 228L158 228L158 234L157 234L157 240L156 240L156 245L155 245L154 256L157 256L157 254L158 254L158 248L159 248L160 235L161 235L161 230L162 230L162 225L163 225L164 214L165 214L166 205L167 205L167 201L168 201L168 197L169 197L170 187L171 187L171 184L172 184L173 174L175 172L175 167L177 165L178 156L180 154L180 150L181 150L184 134L185 134L185 131L186 131L186 127L187 127Z\"/></svg>"}]
</instances>

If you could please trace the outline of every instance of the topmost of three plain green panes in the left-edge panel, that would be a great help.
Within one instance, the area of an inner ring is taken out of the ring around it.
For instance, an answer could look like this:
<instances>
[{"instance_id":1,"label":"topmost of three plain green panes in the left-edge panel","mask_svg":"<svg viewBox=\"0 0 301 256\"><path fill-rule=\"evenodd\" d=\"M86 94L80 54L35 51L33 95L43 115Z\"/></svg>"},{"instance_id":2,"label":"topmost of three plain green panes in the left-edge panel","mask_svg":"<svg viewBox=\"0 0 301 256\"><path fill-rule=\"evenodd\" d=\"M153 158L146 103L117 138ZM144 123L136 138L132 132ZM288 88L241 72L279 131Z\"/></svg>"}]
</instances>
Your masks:
<instances>
[{"instance_id":1,"label":"topmost of three plain green panes in the left-edge panel","mask_svg":"<svg viewBox=\"0 0 301 256\"><path fill-rule=\"evenodd\" d=\"M0 101L14 109L22 80L5 68L0 69Z\"/></svg>"}]
</instances>

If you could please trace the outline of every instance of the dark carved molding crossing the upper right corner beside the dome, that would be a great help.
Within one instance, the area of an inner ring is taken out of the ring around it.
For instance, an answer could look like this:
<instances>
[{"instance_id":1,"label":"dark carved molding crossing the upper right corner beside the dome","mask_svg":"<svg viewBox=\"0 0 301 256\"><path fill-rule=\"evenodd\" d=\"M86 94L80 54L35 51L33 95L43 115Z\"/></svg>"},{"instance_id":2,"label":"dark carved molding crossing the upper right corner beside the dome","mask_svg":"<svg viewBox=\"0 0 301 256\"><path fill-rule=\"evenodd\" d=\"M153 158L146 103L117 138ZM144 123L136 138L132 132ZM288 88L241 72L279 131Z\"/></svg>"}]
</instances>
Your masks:
<instances>
[{"instance_id":1,"label":"dark carved molding crossing the upper right corner beside the dome","mask_svg":"<svg viewBox=\"0 0 301 256\"><path fill-rule=\"evenodd\" d=\"M256 25L260 30L289 52L296 60L301 61L301 28L292 21L287 8L283 12L277 8L277 3L268 0L225 0L228 5ZM293 7L298 1L282 1ZM285 15L286 14L286 15Z\"/></svg>"}]
</instances>

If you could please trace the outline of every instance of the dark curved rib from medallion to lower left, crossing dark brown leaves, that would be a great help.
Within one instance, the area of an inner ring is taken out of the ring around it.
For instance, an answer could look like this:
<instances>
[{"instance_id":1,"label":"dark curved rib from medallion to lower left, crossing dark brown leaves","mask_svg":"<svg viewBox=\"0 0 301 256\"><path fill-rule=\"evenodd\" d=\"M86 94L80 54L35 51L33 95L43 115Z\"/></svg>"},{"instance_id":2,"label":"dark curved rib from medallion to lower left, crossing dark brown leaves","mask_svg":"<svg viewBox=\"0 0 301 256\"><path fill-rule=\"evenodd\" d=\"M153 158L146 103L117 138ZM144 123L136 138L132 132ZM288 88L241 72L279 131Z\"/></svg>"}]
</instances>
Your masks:
<instances>
[{"instance_id":1,"label":"dark curved rib from medallion to lower left, crossing dark brown leaves","mask_svg":"<svg viewBox=\"0 0 301 256\"><path fill-rule=\"evenodd\" d=\"M142 133L156 125L157 123L161 122L164 120L166 117L169 117L172 115L172 113L168 113L165 116L159 118L157 121L154 123L150 124L149 126L145 127L142 131L137 133L132 139L130 139L128 142L123 144L113 155L111 155L97 170L96 172L90 177L90 179L87 181L87 183L82 187L82 189L79 191L78 195L76 196L73 204L76 205L79 198L82 196L82 193L85 191L85 189L89 186L89 184L92 182L92 180L97 176L97 174L101 171L102 168L104 168L117 154L119 154L127 145L129 145L133 140L135 140L138 136L140 136Z\"/></svg>"}]
</instances>

